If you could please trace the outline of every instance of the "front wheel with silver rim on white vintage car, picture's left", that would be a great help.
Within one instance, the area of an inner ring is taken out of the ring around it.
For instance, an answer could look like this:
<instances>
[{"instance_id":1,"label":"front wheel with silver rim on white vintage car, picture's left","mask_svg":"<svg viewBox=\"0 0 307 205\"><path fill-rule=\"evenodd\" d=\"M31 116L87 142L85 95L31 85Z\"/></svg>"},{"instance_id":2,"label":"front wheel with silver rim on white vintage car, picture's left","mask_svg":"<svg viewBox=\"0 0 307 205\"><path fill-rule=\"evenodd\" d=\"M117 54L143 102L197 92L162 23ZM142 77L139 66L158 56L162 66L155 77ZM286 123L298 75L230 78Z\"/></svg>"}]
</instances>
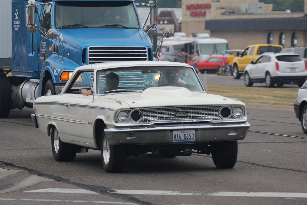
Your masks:
<instances>
[{"instance_id":1,"label":"front wheel with silver rim on white vintage car, picture's left","mask_svg":"<svg viewBox=\"0 0 307 205\"><path fill-rule=\"evenodd\" d=\"M106 172L121 172L124 169L126 159L125 145L109 145L104 132L101 140L101 159Z\"/></svg>"}]
</instances>

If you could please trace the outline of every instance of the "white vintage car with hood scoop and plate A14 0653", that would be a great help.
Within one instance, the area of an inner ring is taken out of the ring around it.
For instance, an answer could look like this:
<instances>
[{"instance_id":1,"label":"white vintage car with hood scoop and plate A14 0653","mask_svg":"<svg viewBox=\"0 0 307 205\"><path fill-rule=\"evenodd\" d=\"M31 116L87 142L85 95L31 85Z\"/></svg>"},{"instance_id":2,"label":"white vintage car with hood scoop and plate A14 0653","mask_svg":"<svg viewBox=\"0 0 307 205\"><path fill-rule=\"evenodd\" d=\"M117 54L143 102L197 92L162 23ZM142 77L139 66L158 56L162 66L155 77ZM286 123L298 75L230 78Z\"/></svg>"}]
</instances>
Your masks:
<instances>
[{"instance_id":1,"label":"white vintage car with hood scoop and plate A14 0653","mask_svg":"<svg viewBox=\"0 0 307 205\"><path fill-rule=\"evenodd\" d=\"M92 95L80 94L84 89ZM56 161L101 150L107 172L122 171L129 156L192 153L211 153L216 167L232 168L237 140L250 127L243 102L207 94L192 66L165 61L78 67L59 95L37 98L33 109L33 124L51 136Z\"/></svg>"}]
</instances>

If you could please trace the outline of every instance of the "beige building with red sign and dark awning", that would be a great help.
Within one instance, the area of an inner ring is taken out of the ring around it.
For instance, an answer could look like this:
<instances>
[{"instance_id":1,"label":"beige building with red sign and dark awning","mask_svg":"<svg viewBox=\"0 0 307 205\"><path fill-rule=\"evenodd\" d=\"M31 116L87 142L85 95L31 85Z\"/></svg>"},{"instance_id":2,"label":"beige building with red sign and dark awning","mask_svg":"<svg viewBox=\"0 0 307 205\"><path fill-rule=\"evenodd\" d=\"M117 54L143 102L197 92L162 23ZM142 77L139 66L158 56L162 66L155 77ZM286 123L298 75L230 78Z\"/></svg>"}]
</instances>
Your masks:
<instances>
[{"instance_id":1,"label":"beige building with red sign and dark awning","mask_svg":"<svg viewBox=\"0 0 307 205\"><path fill-rule=\"evenodd\" d=\"M307 0L304 5L305 12L291 12L258 0L182 0L181 32L225 38L229 49L259 43L307 46Z\"/></svg>"}]
</instances>

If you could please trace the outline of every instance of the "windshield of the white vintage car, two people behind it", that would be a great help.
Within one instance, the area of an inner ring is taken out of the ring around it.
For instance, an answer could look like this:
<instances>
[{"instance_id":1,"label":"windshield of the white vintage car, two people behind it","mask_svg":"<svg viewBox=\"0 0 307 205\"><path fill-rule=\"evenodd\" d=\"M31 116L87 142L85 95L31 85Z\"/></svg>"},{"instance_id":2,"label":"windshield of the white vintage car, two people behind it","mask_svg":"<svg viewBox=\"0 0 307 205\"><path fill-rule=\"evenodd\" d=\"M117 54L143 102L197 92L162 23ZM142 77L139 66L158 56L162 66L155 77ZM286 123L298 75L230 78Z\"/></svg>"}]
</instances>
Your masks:
<instances>
[{"instance_id":1,"label":"windshield of the white vintage car, two people behind it","mask_svg":"<svg viewBox=\"0 0 307 205\"><path fill-rule=\"evenodd\" d=\"M97 94L143 91L149 87L180 86L204 91L192 68L148 67L97 71Z\"/></svg>"}]
</instances>

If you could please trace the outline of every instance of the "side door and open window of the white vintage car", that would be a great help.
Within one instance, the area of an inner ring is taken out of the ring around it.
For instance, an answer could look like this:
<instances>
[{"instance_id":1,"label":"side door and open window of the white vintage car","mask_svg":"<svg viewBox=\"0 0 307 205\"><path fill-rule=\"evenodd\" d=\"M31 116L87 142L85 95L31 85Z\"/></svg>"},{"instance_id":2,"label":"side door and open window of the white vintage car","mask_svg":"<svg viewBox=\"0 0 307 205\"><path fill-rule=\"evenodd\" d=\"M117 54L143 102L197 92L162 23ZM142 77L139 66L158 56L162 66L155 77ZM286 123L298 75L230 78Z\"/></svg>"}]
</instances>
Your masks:
<instances>
[{"instance_id":1,"label":"side door and open window of the white vintage car","mask_svg":"<svg viewBox=\"0 0 307 205\"><path fill-rule=\"evenodd\" d=\"M83 89L92 89L92 72L82 72L72 82L66 97L66 130L71 141L79 145L90 144L90 136L93 135L92 122L88 116L88 104L93 101L93 95L79 94ZM93 91L92 91L93 92Z\"/></svg>"}]
</instances>

